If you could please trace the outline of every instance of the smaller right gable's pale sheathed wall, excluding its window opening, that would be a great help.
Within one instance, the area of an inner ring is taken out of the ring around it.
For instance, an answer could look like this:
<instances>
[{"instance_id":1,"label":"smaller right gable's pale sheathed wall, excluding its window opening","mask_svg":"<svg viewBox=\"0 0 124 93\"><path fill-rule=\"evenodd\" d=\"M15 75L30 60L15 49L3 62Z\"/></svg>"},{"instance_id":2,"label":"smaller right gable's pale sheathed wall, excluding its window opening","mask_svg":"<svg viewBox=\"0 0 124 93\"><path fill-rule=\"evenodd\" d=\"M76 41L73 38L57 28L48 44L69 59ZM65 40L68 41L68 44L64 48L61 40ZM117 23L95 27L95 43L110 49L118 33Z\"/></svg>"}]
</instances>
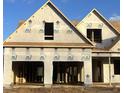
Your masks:
<instances>
[{"instance_id":1,"label":"smaller right gable's pale sheathed wall, excluding its window opening","mask_svg":"<svg viewBox=\"0 0 124 93\"><path fill-rule=\"evenodd\" d=\"M96 10L93 9L76 28L87 37L87 29L101 29L102 42L94 43L98 48L107 48L112 41L119 36L119 33L113 26Z\"/></svg>"}]
</instances>

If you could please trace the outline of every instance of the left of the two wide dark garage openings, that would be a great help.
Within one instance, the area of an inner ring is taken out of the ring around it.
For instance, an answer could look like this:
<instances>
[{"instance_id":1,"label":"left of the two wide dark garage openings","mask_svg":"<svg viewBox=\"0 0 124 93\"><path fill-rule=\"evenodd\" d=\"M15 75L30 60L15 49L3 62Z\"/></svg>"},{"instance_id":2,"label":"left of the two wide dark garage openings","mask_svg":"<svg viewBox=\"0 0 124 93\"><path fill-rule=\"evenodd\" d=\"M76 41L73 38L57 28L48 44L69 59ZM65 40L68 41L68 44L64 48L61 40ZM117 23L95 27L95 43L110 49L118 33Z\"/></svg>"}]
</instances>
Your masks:
<instances>
[{"instance_id":1,"label":"left of the two wide dark garage openings","mask_svg":"<svg viewBox=\"0 0 124 93\"><path fill-rule=\"evenodd\" d=\"M13 62L14 84L43 83L43 62Z\"/></svg>"}]
</instances>

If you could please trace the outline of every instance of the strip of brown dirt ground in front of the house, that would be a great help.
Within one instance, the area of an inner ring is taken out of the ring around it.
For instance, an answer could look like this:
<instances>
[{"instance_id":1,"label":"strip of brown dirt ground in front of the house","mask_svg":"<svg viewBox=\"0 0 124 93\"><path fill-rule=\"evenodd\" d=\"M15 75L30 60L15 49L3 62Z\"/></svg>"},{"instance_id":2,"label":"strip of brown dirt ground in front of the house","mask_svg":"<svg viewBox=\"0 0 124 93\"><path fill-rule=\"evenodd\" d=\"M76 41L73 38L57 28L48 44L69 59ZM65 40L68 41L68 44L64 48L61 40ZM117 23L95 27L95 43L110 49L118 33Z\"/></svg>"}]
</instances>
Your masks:
<instances>
[{"instance_id":1,"label":"strip of brown dirt ground in front of the house","mask_svg":"<svg viewBox=\"0 0 124 93\"><path fill-rule=\"evenodd\" d=\"M40 88L9 88L3 93L120 93L118 87L40 87Z\"/></svg>"}]
</instances>

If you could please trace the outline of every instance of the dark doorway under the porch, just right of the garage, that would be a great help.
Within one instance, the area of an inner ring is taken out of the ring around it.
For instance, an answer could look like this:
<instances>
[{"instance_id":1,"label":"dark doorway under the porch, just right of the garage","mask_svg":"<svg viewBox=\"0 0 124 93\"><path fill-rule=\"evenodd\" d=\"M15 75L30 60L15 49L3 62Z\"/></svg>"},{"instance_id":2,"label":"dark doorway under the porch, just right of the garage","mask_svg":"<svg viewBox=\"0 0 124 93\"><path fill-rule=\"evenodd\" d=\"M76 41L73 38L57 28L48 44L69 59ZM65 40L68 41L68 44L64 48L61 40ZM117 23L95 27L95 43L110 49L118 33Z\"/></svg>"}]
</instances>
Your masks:
<instances>
[{"instance_id":1,"label":"dark doorway under the porch, just right of the garage","mask_svg":"<svg viewBox=\"0 0 124 93\"><path fill-rule=\"evenodd\" d=\"M99 60L92 62L93 82L103 82L103 65Z\"/></svg>"}]
</instances>

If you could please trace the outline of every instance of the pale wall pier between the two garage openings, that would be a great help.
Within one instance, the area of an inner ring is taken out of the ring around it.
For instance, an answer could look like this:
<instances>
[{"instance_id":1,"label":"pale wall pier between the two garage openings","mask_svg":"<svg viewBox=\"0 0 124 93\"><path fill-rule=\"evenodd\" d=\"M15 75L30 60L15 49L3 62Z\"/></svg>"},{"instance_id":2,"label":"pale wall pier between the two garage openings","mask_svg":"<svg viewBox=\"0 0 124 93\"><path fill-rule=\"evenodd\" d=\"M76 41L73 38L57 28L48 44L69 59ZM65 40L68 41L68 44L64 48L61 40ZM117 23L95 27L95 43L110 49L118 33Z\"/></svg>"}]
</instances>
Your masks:
<instances>
[{"instance_id":1,"label":"pale wall pier between the two garage openings","mask_svg":"<svg viewBox=\"0 0 124 93\"><path fill-rule=\"evenodd\" d=\"M53 62L52 60L45 60L44 61L44 84L45 85L52 85L53 81Z\"/></svg>"}]
</instances>

